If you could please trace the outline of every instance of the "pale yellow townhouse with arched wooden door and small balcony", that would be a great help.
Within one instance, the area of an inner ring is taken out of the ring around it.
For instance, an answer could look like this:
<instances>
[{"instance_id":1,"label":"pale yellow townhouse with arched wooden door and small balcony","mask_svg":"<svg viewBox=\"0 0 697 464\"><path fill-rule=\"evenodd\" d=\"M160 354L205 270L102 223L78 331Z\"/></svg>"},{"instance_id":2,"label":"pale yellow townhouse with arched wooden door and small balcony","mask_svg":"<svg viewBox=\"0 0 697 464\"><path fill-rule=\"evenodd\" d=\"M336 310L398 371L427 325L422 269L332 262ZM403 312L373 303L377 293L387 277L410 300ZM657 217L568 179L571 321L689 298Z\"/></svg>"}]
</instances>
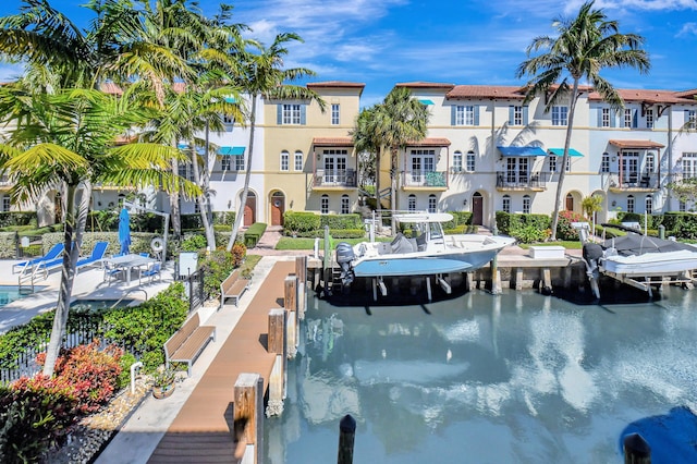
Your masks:
<instances>
[{"instance_id":1,"label":"pale yellow townhouse with arched wooden door and small balcony","mask_svg":"<svg viewBox=\"0 0 697 464\"><path fill-rule=\"evenodd\" d=\"M359 111L364 84L307 84L326 102L264 100L265 202L270 225L282 225L283 212L353 212L359 197L358 157L351 130Z\"/></svg>"}]
</instances>

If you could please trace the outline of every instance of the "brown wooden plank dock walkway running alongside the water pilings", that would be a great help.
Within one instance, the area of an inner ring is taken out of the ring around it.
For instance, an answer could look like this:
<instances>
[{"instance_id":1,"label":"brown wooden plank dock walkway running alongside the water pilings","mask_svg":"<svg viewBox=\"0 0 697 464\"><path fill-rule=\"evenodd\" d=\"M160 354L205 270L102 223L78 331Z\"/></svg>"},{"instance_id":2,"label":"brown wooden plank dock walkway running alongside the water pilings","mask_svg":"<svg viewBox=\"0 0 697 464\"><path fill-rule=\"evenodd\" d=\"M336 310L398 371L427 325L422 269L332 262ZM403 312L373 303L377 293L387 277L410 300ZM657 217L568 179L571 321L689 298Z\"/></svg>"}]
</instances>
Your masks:
<instances>
[{"instance_id":1,"label":"brown wooden plank dock walkway running alongside the water pilings","mask_svg":"<svg viewBox=\"0 0 697 464\"><path fill-rule=\"evenodd\" d=\"M235 381L242 373L258 373L264 378L264 391L267 390L276 359L276 355L267 351L269 310L282 307L284 279L294 271L293 261L279 261L273 266L158 443L149 463L235 462Z\"/></svg>"}]
</instances>

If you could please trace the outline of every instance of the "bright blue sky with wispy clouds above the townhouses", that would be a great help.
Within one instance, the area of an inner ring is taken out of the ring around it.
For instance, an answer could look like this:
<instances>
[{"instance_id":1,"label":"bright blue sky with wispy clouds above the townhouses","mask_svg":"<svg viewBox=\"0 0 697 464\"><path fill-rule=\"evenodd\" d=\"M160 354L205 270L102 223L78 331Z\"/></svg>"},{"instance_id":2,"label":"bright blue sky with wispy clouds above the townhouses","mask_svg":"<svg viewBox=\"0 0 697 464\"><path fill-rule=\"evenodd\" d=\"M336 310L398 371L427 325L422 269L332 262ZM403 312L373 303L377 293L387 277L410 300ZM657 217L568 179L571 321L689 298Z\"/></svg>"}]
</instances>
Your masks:
<instances>
[{"instance_id":1,"label":"bright blue sky with wispy clouds above the townhouses","mask_svg":"<svg viewBox=\"0 0 697 464\"><path fill-rule=\"evenodd\" d=\"M85 0L51 2L86 25ZM212 15L219 1L199 0ZM317 72L311 81L366 84L362 105L380 101L395 83L519 85L517 65L538 35L552 35L552 20L576 14L582 1L559 0L237 0L233 20L271 44L276 34L295 32L288 66ZM0 14L15 13L5 0ZM620 88L683 90L697 87L697 0L596 1L622 33L645 37L651 71L606 71ZM0 81L20 72L0 64Z\"/></svg>"}]
</instances>

